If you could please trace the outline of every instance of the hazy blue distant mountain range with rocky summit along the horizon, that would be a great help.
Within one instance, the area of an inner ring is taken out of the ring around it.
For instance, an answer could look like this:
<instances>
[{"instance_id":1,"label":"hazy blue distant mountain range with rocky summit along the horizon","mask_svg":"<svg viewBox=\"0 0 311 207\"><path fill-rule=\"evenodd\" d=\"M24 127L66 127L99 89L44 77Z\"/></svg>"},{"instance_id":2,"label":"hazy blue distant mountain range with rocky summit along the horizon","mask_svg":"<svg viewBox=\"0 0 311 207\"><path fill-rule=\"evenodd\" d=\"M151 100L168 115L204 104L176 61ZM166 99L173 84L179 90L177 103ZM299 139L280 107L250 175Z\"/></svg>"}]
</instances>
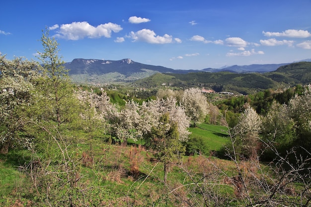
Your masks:
<instances>
[{"instance_id":1,"label":"hazy blue distant mountain range with rocky summit along the horizon","mask_svg":"<svg viewBox=\"0 0 311 207\"><path fill-rule=\"evenodd\" d=\"M311 59L303 60L311 62ZM249 66L229 66L222 69L202 69L202 70L182 70L170 69L162 66L146 65L132 61L131 59L123 59L119 61L111 60L95 60L95 59L74 59L72 62L65 63L65 67L69 69L69 74L74 82L82 83L107 83L107 82L133 82L138 79L149 77L155 73L175 73L187 74L189 72L221 72L231 71L234 73L249 72L270 72L275 71L284 64L254 64Z\"/></svg>"}]
</instances>

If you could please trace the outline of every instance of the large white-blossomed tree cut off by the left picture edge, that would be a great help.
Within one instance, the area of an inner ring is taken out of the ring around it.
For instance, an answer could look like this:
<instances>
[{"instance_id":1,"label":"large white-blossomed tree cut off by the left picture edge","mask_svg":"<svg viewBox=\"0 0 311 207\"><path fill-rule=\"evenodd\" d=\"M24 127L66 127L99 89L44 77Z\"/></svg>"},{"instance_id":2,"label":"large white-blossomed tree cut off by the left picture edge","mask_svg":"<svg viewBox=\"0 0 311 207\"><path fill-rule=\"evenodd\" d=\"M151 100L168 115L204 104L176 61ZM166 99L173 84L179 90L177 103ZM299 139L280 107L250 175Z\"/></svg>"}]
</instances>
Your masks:
<instances>
[{"instance_id":1,"label":"large white-blossomed tree cut off by the left picture edge","mask_svg":"<svg viewBox=\"0 0 311 207\"><path fill-rule=\"evenodd\" d=\"M30 147L32 138L24 135L25 110L33 103L34 79L39 74L34 61L0 54L0 153L12 146Z\"/></svg>"}]
</instances>

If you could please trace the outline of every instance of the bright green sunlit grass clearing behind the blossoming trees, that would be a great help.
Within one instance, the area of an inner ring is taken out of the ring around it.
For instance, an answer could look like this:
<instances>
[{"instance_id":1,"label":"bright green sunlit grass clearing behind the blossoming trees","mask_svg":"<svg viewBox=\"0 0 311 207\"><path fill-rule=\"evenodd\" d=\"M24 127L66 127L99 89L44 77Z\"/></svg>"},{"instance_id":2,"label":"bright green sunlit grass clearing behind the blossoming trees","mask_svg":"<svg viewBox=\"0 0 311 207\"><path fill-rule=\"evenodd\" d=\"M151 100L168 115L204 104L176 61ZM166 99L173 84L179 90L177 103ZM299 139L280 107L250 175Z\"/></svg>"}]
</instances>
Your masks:
<instances>
[{"instance_id":1,"label":"bright green sunlit grass clearing behind the blossoming trees","mask_svg":"<svg viewBox=\"0 0 311 207\"><path fill-rule=\"evenodd\" d=\"M219 151L228 141L227 128L220 125L199 124L195 128L190 128L190 137L202 137L209 150Z\"/></svg>"}]
</instances>

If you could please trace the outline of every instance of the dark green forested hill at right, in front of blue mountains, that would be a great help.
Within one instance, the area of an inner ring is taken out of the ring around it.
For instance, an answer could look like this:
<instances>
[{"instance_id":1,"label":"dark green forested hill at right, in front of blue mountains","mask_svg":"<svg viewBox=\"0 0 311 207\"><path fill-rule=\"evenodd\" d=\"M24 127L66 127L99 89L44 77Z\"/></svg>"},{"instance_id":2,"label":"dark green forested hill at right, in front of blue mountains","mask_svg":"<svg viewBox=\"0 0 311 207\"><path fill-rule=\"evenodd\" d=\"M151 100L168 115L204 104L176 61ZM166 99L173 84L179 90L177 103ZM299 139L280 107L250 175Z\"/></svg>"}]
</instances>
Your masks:
<instances>
[{"instance_id":1,"label":"dark green forested hill at right, in front of blue mountains","mask_svg":"<svg viewBox=\"0 0 311 207\"><path fill-rule=\"evenodd\" d=\"M311 82L311 62L282 66L274 72L234 73L234 72L190 72L187 74L157 73L138 80L140 87L170 85L177 87L207 87L215 91L230 91L242 94L262 91L280 86L294 86Z\"/></svg>"}]
</instances>

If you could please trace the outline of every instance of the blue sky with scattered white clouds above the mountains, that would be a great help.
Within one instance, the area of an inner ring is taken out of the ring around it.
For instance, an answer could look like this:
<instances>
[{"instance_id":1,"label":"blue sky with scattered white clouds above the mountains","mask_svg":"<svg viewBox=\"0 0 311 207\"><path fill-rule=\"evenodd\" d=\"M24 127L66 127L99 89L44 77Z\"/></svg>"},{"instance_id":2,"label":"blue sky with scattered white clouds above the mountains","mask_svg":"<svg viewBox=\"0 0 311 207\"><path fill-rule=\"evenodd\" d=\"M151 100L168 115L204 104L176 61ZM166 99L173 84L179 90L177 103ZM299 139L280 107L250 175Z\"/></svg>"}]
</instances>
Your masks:
<instances>
[{"instance_id":1,"label":"blue sky with scattered white clouds above the mountains","mask_svg":"<svg viewBox=\"0 0 311 207\"><path fill-rule=\"evenodd\" d=\"M46 27L65 62L205 69L311 58L311 0L5 0L0 52L38 60Z\"/></svg>"}]
</instances>

